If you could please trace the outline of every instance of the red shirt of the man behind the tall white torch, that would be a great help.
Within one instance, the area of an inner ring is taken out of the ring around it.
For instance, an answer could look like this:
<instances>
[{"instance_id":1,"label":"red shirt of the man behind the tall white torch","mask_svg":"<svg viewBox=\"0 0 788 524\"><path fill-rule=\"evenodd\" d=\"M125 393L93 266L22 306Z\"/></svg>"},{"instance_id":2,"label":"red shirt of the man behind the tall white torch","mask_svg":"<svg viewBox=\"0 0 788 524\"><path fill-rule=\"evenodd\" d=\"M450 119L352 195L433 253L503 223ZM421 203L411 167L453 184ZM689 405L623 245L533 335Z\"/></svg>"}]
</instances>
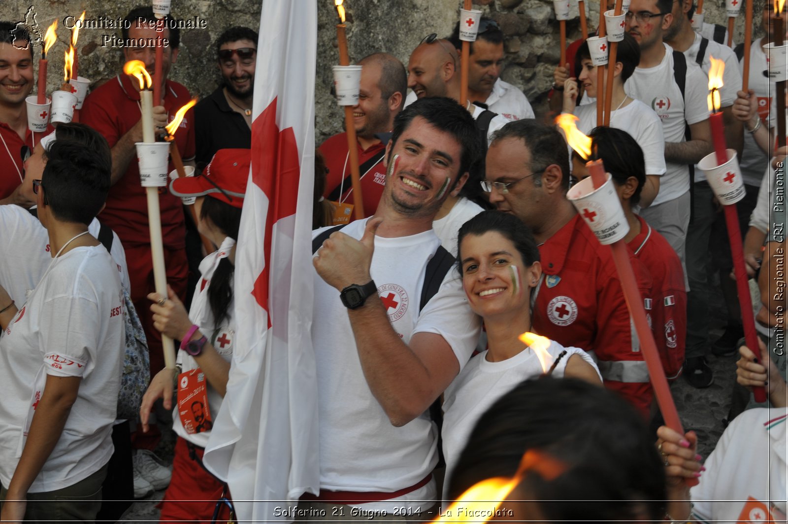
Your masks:
<instances>
[{"instance_id":1,"label":"red shirt of the man behind the tall white torch","mask_svg":"<svg viewBox=\"0 0 788 524\"><path fill-rule=\"evenodd\" d=\"M162 105L171 121L175 112L191 99L184 86L167 80L162 91ZM141 116L139 92L125 74L108 80L90 95L87 95L82 122L90 125L106 138L113 148L121 137L132 129ZM188 110L180 128L175 133L175 142L184 160L195 155L194 111ZM172 164L169 170L173 170ZM184 208L179 197L174 197L166 188L159 189L159 204L162 211L162 238L165 249L182 249L185 245L186 229ZM106 208L99 219L110 226L125 245L148 245L151 243L148 230L146 191L139 183L139 167L132 158L125 174L110 188L106 197Z\"/></svg>"}]
</instances>

